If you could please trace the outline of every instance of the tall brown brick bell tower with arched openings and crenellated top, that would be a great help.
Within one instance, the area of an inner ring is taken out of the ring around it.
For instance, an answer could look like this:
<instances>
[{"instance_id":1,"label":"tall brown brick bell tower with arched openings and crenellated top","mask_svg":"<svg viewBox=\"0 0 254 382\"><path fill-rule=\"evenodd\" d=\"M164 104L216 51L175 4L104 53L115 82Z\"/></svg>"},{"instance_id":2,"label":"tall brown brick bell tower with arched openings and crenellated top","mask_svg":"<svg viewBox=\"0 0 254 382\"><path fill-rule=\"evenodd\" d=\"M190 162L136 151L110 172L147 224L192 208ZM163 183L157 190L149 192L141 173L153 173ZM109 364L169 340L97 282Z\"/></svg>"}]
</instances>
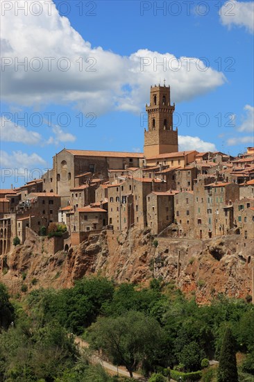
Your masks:
<instances>
[{"instance_id":1,"label":"tall brown brick bell tower with arched openings and crenellated top","mask_svg":"<svg viewBox=\"0 0 254 382\"><path fill-rule=\"evenodd\" d=\"M151 86L150 105L146 104L148 131L144 131L144 156L178 152L178 130L173 130L175 104L170 104L170 86Z\"/></svg>"}]
</instances>

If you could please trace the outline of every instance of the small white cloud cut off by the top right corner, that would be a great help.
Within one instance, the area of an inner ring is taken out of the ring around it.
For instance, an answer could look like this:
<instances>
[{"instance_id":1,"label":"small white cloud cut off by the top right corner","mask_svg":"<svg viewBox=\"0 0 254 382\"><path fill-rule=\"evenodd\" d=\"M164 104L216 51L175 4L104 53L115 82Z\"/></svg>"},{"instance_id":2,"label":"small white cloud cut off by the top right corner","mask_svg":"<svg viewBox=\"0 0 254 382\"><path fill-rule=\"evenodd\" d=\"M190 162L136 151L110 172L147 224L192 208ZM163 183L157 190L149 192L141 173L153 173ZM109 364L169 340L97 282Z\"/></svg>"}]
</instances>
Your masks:
<instances>
[{"instance_id":1,"label":"small white cloud cut off by the top right corner","mask_svg":"<svg viewBox=\"0 0 254 382\"><path fill-rule=\"evenodd\" d=\"M230 0L223 4L220 10L221 22L229 28L232 25L244 26L248 32L254 31L253 1Z\"/></svg>"}]
</instances>

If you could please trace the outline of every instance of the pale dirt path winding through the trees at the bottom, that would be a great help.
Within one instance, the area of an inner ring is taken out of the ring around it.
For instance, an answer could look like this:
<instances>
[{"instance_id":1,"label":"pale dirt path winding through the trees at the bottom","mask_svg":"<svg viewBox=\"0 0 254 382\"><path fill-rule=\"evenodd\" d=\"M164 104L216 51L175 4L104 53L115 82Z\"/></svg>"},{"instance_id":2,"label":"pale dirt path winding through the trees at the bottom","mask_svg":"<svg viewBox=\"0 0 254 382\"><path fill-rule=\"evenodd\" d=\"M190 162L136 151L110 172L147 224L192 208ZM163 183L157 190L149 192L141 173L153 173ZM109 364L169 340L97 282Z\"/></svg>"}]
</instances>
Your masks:
<instances>
[{"instance_id":1,"label":"pale dirt path winding through the trees at the bottom","mask_svg":"<svg viewBox=\"0 0 254 382\"><path fill-rule=\"evenodd\" d=\"M78 345L78 347L80 349L83 349L83 348L88 349L89 348L88 342L85 342L84 340L82 340L79 337L75 338L75 343ZM125 367L121 367L121 366L116 367L116 366L112 365L111 363L108 363L105 360L102 360L98 354L94 354L91 357L91 360L92 360L92 363L100 363L104 367L104 369L106 369L110 372L110 374L116 374L116 375L119 374L120 376L130 377L129 372L127 371L127 369ZM133 373L133 379L138 379L139 381L147 381L147 379L145 379L144 376L142 376L140 374L136 374L136 373Z\"/></svg>"}]
</instances>

